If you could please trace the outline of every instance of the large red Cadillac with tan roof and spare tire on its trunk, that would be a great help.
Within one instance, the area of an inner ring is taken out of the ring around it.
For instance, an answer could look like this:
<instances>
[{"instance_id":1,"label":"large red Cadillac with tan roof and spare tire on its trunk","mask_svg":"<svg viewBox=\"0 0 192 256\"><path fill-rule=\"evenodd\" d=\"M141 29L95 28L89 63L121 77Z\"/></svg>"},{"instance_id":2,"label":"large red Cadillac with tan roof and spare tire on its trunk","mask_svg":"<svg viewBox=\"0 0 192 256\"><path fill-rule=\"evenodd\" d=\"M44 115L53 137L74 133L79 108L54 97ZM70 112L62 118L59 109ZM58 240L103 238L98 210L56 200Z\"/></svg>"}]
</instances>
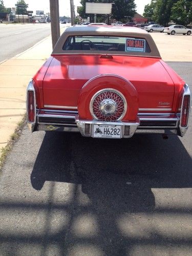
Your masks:
<instances>
[{"instance_id":1,"label":"large red Cadillac with tan roof and spare tire on its trunk","mask_svg":"<svg viewBox=\"0 0 192 256\"><path fill-rule=\"evenodd\" d=\"M27 88L31 131L93 138L188 128L190 91L138 28L70 27Z\"/></svg>"}]
</instances>

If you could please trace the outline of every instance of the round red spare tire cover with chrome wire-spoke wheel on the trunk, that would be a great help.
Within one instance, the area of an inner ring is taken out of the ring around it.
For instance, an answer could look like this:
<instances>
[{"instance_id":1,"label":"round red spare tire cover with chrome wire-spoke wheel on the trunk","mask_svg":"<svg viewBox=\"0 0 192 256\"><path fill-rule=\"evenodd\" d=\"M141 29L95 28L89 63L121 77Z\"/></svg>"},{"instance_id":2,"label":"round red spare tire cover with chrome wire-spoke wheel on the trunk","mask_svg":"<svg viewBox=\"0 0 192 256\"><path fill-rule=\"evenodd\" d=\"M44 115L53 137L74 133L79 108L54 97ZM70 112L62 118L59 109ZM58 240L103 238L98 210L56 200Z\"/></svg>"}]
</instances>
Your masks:
<instances>
[{"instance_id":1,"label":"round red spare tire cover with chrome wire-spoke wheel on the trunk","mask_svg":"<svg viewBox=\"0 0 192 256\"><path fill-rule=\"evenodd\" d=\"M138 94L133 84L115 74L91 78L78 98L81 120L135 121L138 107Z\"/></svg>"}]
</instances>

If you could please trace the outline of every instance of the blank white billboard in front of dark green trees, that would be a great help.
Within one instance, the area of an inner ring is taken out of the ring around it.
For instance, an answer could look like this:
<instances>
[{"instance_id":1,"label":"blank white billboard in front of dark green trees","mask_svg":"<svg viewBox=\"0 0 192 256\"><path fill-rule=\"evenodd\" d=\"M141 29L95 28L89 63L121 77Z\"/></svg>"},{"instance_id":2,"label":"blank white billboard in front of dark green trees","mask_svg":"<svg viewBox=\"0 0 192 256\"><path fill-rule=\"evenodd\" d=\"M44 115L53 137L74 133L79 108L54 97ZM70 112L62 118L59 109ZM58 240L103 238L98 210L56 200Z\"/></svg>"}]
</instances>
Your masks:
<instances>
[{"instance_id":1,"label":"blank white billboard in front of dark green trees","mask_svg":"<svg viewBox=\"0 0 192 256\"><path fill-rule=\"evenodd\" d=\"M86 2L86 13L111 14L112 4Z\"/></svg>"}]
</instances>

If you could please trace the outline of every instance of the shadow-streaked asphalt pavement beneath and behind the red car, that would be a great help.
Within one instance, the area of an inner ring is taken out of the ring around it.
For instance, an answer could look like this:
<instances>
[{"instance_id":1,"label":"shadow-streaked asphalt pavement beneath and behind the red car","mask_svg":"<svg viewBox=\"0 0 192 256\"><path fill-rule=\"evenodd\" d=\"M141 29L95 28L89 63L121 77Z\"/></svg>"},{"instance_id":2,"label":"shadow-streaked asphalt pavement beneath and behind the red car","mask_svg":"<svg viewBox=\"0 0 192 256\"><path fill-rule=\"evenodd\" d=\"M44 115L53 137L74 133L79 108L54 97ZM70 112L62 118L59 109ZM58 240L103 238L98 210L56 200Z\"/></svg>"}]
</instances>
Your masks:
<instances>
[{"instance_id":1,"label":"shadow-streaked asphalt pavement beneath and behind the red car","mask_svg":"<svg viewBox=\"0 0 192 256\"><path fill-rule=\"evenodd\" d=\"M190 85L192 62L169 62ZM27 126L0 177L1 255L191 255L192 116L183 138Z\"/></svg>"}]
</instances>

